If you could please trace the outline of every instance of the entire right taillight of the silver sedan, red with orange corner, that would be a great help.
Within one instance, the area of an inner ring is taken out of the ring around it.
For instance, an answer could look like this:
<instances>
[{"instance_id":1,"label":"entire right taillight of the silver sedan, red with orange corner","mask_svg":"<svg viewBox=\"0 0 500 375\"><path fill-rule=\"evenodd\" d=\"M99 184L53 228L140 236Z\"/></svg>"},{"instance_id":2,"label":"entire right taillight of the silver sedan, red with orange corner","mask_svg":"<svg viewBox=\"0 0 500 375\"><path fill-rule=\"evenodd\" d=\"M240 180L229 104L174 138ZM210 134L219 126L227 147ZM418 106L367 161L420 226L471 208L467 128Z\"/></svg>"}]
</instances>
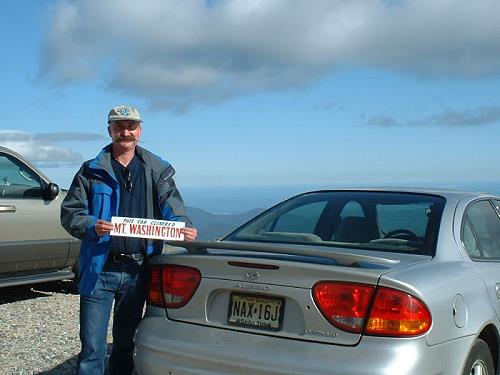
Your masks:
<instances>
[{"instance_id":1,"label":"entire right taillight of the silver sedan, red with orange corner","mask_svg":"<svg viewBox=\"0 0 500 375\"><path fill-rule=\"evenodd\" d=\"M323 316L344 331L407 337L427 332L432 323L422 301L396 289L320 281L312 292Z\"/></svg>"}]
</instances>

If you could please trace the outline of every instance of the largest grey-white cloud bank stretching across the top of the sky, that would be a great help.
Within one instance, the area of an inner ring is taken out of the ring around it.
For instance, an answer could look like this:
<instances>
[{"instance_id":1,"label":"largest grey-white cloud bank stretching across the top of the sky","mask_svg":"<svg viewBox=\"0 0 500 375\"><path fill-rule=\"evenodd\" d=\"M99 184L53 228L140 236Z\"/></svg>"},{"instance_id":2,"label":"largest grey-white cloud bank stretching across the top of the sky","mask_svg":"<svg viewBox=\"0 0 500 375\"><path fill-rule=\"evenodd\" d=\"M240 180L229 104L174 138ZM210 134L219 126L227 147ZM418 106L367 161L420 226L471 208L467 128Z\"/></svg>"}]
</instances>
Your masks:
<instances>
[{"instance_id":1,"label":"largest grey-white cloud bank stretching across the top of the sky","mask_svg":"<svg viewBox=\"0 0 500 375\"><path fill-rule=\"evenodd\" d=\"M338 67L500 73L497 0L61 0L41 75L182 110L307 85Z\"/></svg>"}]
</instances>

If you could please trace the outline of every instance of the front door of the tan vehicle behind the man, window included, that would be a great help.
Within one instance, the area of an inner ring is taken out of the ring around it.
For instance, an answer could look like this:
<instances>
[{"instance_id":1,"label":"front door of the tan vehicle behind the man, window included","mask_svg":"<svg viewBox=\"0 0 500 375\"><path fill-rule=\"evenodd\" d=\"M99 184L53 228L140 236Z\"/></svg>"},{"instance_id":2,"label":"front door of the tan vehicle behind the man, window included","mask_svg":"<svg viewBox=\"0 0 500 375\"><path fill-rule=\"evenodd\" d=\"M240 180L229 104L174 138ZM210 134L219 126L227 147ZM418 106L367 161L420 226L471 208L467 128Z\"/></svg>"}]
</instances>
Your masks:
<instances>
[{"instance_id":1,"label":"front door of the tan vehicle behind the man, window included","mask_svg":"<svg viewBox=\"0 0 500 375\"><path fill-rule=\"evenodd\" d=\"M62 194L44 200L44 183L27 164L0 151L0 276L56 270L66 262Z\"/></svg>"}]
</instances>

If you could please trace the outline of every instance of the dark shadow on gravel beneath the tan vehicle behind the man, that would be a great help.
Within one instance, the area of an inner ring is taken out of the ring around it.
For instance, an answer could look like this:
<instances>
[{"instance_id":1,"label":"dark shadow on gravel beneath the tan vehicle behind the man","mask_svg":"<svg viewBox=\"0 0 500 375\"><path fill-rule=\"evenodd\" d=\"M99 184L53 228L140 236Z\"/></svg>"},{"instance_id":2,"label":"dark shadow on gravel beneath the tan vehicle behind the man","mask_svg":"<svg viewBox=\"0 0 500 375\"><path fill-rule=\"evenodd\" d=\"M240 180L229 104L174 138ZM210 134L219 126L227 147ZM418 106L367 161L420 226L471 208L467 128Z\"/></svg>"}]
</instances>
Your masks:
<instances>
[{"instance_id":1,"label":"dark shadow on gravel beneath the tan vehicle behind the man","mask_svg":"<svg viewBox=\"0 0 500 375\"><path fill-rule=\"evenodd\" d=\"M48 297L53 293L78 294L76 285L72 280L11 286L2 288L1 291L0 305L28 299Z\"/></svg>"}]
</instances>

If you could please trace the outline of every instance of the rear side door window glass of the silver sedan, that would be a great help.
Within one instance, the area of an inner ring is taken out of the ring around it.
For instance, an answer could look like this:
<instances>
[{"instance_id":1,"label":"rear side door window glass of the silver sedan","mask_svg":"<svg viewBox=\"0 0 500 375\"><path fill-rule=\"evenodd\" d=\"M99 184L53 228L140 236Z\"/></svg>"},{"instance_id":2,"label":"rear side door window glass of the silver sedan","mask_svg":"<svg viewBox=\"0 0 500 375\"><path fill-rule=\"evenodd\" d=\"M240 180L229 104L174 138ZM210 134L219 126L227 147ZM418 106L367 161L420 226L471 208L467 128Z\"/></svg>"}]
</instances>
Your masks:
<instances>
[{"instance_id":1,"label":"rear side door window glass of the silver sedan","mask_svg":"<svg viewBox=\"0 0 500 375\"><path fill-rule=\"evenodd\" d=\"M483 259L500 259L500 218L489 201L470 205L466 212Z\"/></svg>"}]
</instances>

